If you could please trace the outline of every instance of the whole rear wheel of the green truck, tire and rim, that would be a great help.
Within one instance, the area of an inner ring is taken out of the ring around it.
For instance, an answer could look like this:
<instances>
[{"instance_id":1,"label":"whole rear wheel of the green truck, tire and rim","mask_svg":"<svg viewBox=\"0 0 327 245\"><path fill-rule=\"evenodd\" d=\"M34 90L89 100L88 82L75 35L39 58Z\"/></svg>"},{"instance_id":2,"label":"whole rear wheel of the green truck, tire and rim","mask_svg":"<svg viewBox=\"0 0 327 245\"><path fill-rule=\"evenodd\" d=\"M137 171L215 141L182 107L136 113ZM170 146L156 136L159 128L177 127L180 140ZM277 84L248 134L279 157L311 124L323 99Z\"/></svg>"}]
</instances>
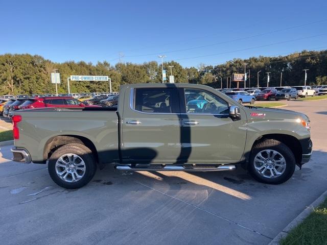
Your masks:
<instances>
[{"instance_id":1,"label":"whole rear wheel of the green truck, tire and rim","mask_svg":"<svg viewBox=\"0 0 327 245\"><path fill-rule=\"evenodd\" d=\"M61 146L51 155L48 163L51 179L67 189L86 185L95 175L96 169L92 152L79 143Z\"/></svg>"}]
</instances>

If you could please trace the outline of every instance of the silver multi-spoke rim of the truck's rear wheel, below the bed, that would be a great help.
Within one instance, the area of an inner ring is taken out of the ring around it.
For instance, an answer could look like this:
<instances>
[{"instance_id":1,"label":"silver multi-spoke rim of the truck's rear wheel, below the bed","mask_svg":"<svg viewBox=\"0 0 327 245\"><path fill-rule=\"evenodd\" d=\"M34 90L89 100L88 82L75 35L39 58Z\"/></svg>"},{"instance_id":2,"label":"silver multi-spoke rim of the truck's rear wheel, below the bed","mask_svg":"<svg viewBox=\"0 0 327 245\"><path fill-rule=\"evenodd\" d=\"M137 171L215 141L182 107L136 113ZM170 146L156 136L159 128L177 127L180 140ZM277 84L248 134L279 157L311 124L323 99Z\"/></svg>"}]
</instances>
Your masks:
<instances>
[{"instance_id":1,"label":"silver multi-spoke rim of the truck's rear wheel, below the bed","mask_svg":"<svg viewBox=\"0 0 327 245\"><path fill-rule=\"evenodd\" d=\"M65 154L58 158L56 173L65 182L77 182L83 178L86 170L85 162L76 154Z\"/></svg>"}]
</instances>

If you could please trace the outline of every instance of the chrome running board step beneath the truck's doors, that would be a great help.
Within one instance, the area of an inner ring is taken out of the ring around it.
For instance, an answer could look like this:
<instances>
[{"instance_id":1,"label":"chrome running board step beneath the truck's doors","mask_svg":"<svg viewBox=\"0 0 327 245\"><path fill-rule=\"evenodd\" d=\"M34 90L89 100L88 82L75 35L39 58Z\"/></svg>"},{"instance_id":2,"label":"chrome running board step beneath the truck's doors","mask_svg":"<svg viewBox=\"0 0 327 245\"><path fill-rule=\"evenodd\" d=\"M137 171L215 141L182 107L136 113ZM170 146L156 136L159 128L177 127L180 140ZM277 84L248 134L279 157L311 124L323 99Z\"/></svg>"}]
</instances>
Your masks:
<instances>
[{"instance_id":1,"label":"chrome running board step beneath the truck's doors","mask_svg":"<svg viewBox=\"0 0 327 245\"><path fill-rule=\"evenodd\" d=\"M124 171L226 171L236 169L235 165L220 165L217 167L183 167L176 165L166 165L163 167L132 167L130 165L115 165L115 169Z\"/></svg>"}]
</instances>

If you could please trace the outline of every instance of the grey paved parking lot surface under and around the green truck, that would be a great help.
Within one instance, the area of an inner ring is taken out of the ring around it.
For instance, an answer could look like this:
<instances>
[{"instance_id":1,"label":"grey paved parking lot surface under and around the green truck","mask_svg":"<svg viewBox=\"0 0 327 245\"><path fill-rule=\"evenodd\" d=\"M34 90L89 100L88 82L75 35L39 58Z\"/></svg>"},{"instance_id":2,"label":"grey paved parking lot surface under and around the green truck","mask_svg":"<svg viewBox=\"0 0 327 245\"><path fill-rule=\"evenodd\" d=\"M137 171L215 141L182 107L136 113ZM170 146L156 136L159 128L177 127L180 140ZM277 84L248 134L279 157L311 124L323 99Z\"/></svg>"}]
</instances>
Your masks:
<instances>
[{"instance_id":1,"label":"grey paved parking lot surface under and around the green truck","mask_svg":"<svg viewBox=\"0 0 327 245\"><path fill-rule=\"evenodd\" d=\"M129 173L107 166L87 186L56 186L46 165L0 151L1 244L267 244L327 188L327 100L282 109L311 119L312 160L281 185L232 172ZM4 126L2 126L4 127Z\"/></svg>"}]
</instances>

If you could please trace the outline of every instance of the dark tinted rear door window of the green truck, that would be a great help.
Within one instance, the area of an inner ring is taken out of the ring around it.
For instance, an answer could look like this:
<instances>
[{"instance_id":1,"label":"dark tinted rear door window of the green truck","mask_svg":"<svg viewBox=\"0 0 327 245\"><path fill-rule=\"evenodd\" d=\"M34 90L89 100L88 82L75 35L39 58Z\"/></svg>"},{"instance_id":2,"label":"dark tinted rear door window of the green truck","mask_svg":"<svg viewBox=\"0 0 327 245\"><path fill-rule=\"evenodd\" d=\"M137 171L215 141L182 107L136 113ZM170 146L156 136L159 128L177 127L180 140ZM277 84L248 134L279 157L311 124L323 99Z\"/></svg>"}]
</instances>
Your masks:
<instances>
[{"instance_id":1,"label":"dark tinted rear door window of the green truck","mask_svg":"<svg viewBox=\"0 0 327 245\"><path fill-rule=\"evenodd\" d=\"M133 109L147 113L177 113L175 88L136 88Z\"/></svg>"}]
</instances>

